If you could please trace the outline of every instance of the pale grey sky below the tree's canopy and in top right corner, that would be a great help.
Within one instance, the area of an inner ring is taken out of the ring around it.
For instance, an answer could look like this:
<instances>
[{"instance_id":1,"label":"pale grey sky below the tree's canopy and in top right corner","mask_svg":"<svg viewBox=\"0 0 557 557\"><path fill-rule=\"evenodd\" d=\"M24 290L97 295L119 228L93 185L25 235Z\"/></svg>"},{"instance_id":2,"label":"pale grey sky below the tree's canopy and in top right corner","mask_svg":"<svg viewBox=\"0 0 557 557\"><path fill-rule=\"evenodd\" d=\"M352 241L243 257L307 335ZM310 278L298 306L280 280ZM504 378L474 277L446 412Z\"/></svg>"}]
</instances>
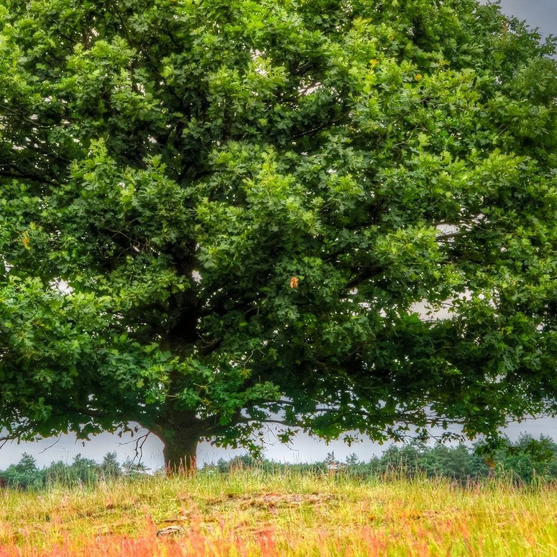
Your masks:
<instances>
[{"instance_id":1,"label":"pale grey sky below the tree's canopy and in top right corner","mask_svg":"<svg viewBox=\"0 0 557 557\"><path fill-rule=\"evenodd\" d=\"M501 0L501 9L508 15L525 19L532 28L538 27L542 35L557 35L557 0ZM534 437L540 434L557 439L557 420L543 418L526 423L511 424L507 434L516 438L521 432L528 432ZM279 443L272 430L266 436L265 456L279 462L317 462L324 460L327 453L334 451L338 460L345 460L350 453L356 453L361 460L370 460L373 455L382 453L386 446L379 446L371 441L348 447L341 441L324 444L322 441L310 439L299 434L291 446ZM7 444L0 450L0 470L19 461L22 453L27 452L36 457L39 466L47 466L53 461L62 460L70 464L78 453L83 457L101 461L109 452L116 451L120 461L135 455L135 439L119 438L111 434L93 437L84 445L72 435L63 435L59 439L44 439L37 443ZM217 462L219 458L229 459L242 450L219 449L209 443L202 443L198 448L198 463ZM142 450L142 462L150 469L156 470L163 466L162 443L150 435Z\"/></svg>"}]
</instances>

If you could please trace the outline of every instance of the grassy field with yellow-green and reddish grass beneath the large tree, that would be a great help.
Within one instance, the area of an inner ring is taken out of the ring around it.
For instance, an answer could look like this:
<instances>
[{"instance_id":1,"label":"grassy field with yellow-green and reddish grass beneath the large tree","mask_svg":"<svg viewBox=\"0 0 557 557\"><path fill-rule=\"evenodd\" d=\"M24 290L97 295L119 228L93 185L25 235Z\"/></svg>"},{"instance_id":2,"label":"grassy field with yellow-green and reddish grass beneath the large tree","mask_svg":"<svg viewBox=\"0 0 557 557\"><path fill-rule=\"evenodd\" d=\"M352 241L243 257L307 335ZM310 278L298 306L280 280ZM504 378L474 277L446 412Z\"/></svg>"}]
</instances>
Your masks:
<instances>
[{"instance_id":1,"label":"grassy field with yellow-green and reddish grass beneath the large tree","mask_svg":"<svg viewBox=\"0 0 557 557\"><path fill-rule=\"evenodd\" d=\"M508 480L237 471L0 493L0 557L556 555L557 487Z\"/></svg>"}]
</instances>

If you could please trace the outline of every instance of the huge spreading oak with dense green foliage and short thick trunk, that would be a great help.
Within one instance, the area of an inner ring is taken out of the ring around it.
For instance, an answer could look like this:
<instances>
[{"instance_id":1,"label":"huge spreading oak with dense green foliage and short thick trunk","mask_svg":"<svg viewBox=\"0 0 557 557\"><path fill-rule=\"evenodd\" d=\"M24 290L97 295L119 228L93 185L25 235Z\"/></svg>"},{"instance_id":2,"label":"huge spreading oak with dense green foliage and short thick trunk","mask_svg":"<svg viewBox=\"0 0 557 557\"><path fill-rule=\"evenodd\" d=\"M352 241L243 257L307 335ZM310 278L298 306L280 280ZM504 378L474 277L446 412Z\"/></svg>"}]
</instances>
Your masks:
<instances>
[{"instance_id":1,"label":"huge spreading oak with dense green foliage and short thick trunk","mask_svg":"<svg viewBox=\"0 0 557 557\"><path fill-rule=\"evenodd\" d=\"M555 412L551 54L475 0L4 0L4 437Z\"/></svg>"}]
</instances>

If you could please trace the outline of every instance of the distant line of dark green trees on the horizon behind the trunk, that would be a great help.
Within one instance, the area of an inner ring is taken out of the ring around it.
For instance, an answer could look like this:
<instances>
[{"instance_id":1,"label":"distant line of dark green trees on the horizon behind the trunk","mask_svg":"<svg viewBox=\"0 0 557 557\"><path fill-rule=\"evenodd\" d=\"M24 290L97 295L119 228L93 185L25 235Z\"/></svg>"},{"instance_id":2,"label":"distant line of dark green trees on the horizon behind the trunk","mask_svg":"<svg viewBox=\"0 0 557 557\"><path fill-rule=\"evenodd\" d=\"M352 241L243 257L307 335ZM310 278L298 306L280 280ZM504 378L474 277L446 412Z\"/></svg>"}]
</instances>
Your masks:
<instances>
[{"instance_id":1,"label":"distant line of dark green trees on the horizon behind the trunk","mask_svg":"<svg viewBox=\"0 0 557 557\"><path fill-rule=\"evenodd\" d=\"M515 483L529 484L535 481L557 480L557 443L542 435L534 439L523 434L517 441L508 441L504 448L486 458L474 447L428 446L411 442L401 446L391 445L381 456L368 462L352 453L344 462L328 453L322 462L291 464L255 459L250 455L220 459L216 464L204 464L200 473L234 473L242 469L255 469L262 473L318 473L352 478L448 478L466 484L483 478L503 477ZM2 484L15 489L42 489L52 485L95 485L100 481L116 478L134 478L148 473L143 464L134 460L118 462L116 453L107 453L102 462L77 455L71 464L52 462L38 468L36 460L24 453L17 464L0 471Z\"/></svg>"}]
</instances>

